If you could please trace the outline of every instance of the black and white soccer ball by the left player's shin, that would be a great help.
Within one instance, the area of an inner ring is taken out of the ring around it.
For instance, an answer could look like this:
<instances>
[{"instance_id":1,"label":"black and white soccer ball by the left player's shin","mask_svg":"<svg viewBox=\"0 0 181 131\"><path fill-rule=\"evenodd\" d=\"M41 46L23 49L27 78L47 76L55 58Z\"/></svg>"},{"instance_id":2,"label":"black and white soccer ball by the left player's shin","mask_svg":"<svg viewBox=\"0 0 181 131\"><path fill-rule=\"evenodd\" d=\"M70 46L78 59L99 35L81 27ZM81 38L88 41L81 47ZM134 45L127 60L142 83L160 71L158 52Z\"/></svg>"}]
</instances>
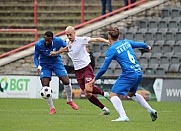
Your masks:
<instances>
[{"instance_id":1,"label":"black and white soccer ball by the left player's shin","mask_svg":"<svg viewBox=\"0 0 181 131\"><path fill-rule=\"evenodd\" d=\"M52 88L45 86L41 89L40 94L44 99L48 99L52 96Z\"/></svg>"}]
</instances>

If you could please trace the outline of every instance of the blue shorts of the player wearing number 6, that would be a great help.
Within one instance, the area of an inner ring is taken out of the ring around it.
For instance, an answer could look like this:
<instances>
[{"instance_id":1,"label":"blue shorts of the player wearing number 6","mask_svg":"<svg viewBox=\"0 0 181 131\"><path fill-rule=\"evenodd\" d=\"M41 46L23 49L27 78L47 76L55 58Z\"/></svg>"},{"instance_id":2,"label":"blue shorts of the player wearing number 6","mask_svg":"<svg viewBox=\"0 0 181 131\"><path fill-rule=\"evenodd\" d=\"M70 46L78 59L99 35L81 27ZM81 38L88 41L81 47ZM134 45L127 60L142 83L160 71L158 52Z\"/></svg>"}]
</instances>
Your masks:
<instances>
[{"instance_id":1,"label":"blue shorts of the player wearing number 6","mask_svg":"<svg viewBox=\"0 0 181 131\"><path fill-rule=\"evenodd\" d=\"M115 84L112 87L111 92L126 96L128 92L133 92L135 95L138 85L142 79L142 73L136 74L122 74L116 80Z\"/></svg>"}]
</instances>

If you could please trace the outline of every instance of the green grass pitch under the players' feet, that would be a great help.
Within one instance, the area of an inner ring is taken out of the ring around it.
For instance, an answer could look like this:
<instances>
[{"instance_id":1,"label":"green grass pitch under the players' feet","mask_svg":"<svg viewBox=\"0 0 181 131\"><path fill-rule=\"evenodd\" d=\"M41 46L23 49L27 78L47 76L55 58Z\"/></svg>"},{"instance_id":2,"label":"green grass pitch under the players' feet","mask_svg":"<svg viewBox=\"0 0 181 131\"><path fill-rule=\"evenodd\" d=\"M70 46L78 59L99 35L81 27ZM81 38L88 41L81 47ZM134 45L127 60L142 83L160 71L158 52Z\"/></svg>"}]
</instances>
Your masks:
<instances>
[{"instance_id":1,"label":"green grass pitch under the players' feet","mask_svg":"<svg viewBox=\"0 0 181 131\"><path fill-rule=\"evenodd\" d=\"M101 101L111 114L101 116L100 109L88 100L75 99L73 110L65 99L54 100L57 113L49 115L43 99L0 99L0 131L181 131L181 102L154 102L158 119L151 121L145 109L134 101L123 101L130 122L111 122L118 118L112 104Z\"/></svg>"}]
</instances>

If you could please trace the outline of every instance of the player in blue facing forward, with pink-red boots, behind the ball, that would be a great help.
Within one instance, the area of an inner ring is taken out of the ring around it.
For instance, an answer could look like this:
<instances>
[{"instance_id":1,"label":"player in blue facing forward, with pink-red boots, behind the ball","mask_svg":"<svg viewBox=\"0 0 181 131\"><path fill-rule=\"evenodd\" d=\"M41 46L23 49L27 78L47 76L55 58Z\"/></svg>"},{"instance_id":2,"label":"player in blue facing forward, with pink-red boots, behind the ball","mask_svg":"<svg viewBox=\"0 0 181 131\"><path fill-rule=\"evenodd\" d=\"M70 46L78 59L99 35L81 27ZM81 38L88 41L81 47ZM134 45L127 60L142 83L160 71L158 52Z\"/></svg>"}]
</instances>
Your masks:
<instances>
[{"instance_id":1,"label":"player in blue facing forward, with pink-red boots, behind the ball","mask_svg":"<svg viewBox=\"0 0 181 131\"><path fill-rule=\"evenodd\" d=\"M56 51L66 46L67 43L61 38L54 37L51 31L47 31L44 38L39 40L35 45L34 63L38 69L38 75L40 75L42 88L46 86L50 87L52 72L54 72L64 84L64 89L67 94L67 104L74 110L78 110L78 106L72 101L72 86L69 83L69 77L63 66L61 56L59 54L54 57L50 56L51 51ZM56 110L52 97L46 100L50 106L49 114L55 114Z\"/></svg>"}]
</instances>

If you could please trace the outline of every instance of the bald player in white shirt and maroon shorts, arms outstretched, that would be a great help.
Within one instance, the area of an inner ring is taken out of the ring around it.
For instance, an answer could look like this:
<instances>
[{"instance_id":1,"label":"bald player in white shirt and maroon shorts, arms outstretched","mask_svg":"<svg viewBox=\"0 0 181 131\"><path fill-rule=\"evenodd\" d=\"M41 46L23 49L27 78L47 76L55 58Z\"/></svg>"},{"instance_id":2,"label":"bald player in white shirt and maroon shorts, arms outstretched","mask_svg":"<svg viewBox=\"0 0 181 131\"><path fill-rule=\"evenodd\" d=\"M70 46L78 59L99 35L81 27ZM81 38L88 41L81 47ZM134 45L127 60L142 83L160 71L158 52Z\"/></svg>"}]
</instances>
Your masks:
<instances>
[{"instance_id":1,"label":"bald player in white shirt and maroon shorts, arms outstretched","mask_svg":"<svg viewBox=\"0 0 181 131\"><path fill-rule=\"evenodd\" d=\"M65 51L68 51L68 55L73 61L75 76L80 88L84 91L85 96L94 105L102 109L102 115L108 115L109 109L106 108L93 94L100 94L105 98L109 98L109 93L100 90L97 86L89 86L89 82L94 78L94 72L90 65L90 56L86 51L86 45L88 42L104 42L109 43L108 40L103 38L90 38L90 37L77 37L75 35L75 29L72 26L68 26L65 30L68 38L68 46L60 49L57 52L51 52L51 55L56 55Z\"/></svg>"}]
</instances>

